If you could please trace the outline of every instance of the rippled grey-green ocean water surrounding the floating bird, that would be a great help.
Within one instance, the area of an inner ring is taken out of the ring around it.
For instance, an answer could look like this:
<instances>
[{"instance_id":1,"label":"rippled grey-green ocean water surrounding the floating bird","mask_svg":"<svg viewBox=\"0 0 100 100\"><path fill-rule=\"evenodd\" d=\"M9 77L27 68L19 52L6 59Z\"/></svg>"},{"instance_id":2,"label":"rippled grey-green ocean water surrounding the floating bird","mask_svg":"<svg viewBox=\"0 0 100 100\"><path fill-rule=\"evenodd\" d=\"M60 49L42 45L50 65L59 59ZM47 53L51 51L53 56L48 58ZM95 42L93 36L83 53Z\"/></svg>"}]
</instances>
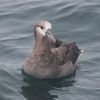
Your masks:
<instances>
[{"instance_id":1,"label":"rippled grey-green ocean water surrounding the floating bird","mask_svg":"<svg viewBox=\"0 0 100 100\"><path fill-rule=\"evenodd\" d=\"M75 41L84 53L76 73L60 80L22 74L34 47L36 21ZM0 100L100 100L100 0L0 0Z\"/></svg>"}]
</instances>

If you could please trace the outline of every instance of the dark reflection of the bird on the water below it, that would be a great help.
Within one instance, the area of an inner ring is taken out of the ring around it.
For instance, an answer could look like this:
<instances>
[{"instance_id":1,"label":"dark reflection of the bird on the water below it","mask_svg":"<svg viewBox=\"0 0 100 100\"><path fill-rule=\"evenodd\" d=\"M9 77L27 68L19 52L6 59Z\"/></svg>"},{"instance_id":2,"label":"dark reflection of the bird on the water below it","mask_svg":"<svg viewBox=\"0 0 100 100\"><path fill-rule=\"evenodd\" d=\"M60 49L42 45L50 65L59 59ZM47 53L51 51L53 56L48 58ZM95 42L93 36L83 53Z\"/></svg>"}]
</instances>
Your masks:
<instances>
[{"instance_id":1,"label":"dark reflection of the bird on the water below it","mask_svg":"<svg viewBox=\"0 0 100 100\"><path fill-rule=\"evenodd\" d=\"M72 87L75 83L75 73L70 77L55 80L36 79L23 74L27 86L22 86L22 95L27 100L54 100L57 95L50 94L50 90L60 91L62 87ZM67 91L67 90L66 90Z\"/></svg>"}]
</instances>

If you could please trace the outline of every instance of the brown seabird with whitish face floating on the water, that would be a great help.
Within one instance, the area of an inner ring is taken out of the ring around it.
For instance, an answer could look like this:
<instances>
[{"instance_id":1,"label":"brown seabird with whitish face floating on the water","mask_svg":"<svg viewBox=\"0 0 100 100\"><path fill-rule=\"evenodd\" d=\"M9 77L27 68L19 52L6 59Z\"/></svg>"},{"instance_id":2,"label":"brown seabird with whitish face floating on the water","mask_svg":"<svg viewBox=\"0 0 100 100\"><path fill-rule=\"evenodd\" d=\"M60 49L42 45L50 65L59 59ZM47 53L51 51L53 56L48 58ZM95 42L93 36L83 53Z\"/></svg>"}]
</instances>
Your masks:
<instances>
[{"instance_id":1,"label":"brown seabird with whitish face floating on the water","mask_svg":"<svg viewBox=\"0 0 100 100\"><path fill-rule=\"evenodd\" d=\"M23 65L26 74L40 79L54 79L69 76L76 70L81 50L75 42L62 43L50 30L51 23L48 21L39 21L35 25L35 46Z\"/></svg>"}]
</instances>

